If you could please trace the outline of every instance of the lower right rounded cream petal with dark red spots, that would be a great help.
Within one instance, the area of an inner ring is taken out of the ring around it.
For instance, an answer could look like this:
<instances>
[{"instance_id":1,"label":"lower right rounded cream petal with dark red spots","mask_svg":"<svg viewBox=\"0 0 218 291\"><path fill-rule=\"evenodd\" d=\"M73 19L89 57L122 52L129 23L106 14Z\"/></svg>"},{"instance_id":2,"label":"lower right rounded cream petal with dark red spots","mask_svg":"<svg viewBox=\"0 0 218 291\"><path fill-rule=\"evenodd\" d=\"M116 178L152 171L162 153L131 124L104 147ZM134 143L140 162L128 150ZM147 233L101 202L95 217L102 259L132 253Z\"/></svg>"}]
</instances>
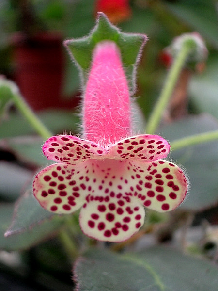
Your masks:
<instances>
[{"instance_id":1,"label":"lower right rounded cream petal with dark red spots","mask_svg":"<svg viewBox=\"0 0 218 291\"><path fill-rule=\"evenodd\" d=\"M145 207L165 212L175 209L184 200L187 179L174 163L157 160L144 167L143 163L134 161L130 169L130 195L140 199Z\"/></svg>"}]
</instances>

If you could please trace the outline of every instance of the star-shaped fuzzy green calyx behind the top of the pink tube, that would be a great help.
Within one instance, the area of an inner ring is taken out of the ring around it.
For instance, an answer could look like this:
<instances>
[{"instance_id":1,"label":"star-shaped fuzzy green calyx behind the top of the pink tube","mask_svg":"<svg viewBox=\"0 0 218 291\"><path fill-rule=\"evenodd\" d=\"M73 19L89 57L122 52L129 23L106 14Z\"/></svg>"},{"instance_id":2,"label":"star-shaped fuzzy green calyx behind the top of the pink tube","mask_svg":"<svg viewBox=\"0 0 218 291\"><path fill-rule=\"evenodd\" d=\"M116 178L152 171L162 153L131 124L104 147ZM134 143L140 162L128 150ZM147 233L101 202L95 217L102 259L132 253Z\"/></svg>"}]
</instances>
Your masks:
<instances>
[{"instance_id":1,"label":"star-shaped fuzzy green calyx behind the top of the pink tube","mask_svg":"<svg viewBox=\"0 0 218 291\"><path fill-rule=\"evenodd\" d=\"M97 23L89 36L65 42L81 69L82 81L86 82L88 69L91 66L93 48L98 42L103 40L116 42L121 50L122 61L126 77L129 79L130 88L135 88L134 65L137 62L140 48L146 41L146 36L120 32L102 12L98 13Z\"/></svg>"}]
</instances>

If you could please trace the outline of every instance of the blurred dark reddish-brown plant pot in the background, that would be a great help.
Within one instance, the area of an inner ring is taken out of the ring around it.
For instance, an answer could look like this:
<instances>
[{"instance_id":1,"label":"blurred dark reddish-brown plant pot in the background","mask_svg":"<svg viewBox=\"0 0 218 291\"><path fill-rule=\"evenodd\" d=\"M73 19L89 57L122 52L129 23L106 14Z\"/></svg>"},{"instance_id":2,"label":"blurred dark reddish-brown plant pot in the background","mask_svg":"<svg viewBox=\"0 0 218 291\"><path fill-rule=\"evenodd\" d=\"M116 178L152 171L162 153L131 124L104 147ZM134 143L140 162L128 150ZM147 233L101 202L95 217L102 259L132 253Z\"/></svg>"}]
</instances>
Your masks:
<instances>
[{"instance_id":1,"label":"blurred dark reddish-brown plant pot in the background","mask_svg":"<svg viewBox=\"0 0 218 291\"><path fill-rule=\"evenodd\" d=\"M40 32L32 38L13 36L15 81L32 109L73 107L62 98L64 56L62 35Z\"/></svg>"}]
</instances>

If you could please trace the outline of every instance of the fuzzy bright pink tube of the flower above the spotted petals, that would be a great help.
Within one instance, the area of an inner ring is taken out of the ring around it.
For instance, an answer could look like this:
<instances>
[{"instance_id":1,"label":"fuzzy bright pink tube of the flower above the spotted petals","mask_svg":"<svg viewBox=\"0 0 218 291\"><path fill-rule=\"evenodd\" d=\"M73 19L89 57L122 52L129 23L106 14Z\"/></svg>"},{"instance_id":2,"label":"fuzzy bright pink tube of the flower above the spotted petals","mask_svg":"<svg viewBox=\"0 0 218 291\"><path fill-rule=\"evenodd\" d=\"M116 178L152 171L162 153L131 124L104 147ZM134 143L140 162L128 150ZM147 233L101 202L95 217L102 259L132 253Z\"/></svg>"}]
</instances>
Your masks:
<instances>
[{"instance_id":1,"label":"fuzzy bright pink tube of the flower above the spotted petals","mask_svg":"<svg viewBox=\"0 0 218 291\"><path fill-rule=\"evenodd\" d=\"M93 62L83 101L85 138L108 146L130 130L130 96L120 51L112 41L102 41Z\"/></svg>"}]
</instances>

